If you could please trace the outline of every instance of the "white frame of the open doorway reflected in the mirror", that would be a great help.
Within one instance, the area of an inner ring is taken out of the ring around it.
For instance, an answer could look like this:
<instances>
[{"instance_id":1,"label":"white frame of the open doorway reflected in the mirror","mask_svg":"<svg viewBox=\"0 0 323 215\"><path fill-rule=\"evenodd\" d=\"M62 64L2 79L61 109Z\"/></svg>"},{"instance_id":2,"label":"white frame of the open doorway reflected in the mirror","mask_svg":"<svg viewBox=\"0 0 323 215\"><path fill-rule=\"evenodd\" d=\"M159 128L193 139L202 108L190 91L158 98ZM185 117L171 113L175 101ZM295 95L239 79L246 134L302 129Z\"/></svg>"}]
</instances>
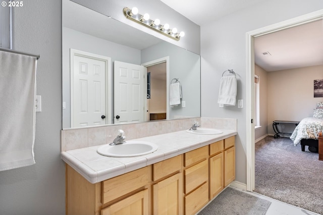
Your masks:
<instances>
[{"instance_id":1,"label":"white frame of the open doorway reflected in the mirror","mask_svg":"<svg viewBox=\"0 0 323 215\"><path fill-rule=\"evenodd\" d=\"M159 58L153 61L149 61L146 63L141 64L141 66L144 67L150 67L156 64L160 64L160 63L164 63L166 62L166 119L170 119L170 97L169 97L169 90L170 90L170 57L163 57L163 58ZM145 100L145 110L144 112L147 112L147 96L146 96L146 100Z\"/></svg>"}]
</instances>

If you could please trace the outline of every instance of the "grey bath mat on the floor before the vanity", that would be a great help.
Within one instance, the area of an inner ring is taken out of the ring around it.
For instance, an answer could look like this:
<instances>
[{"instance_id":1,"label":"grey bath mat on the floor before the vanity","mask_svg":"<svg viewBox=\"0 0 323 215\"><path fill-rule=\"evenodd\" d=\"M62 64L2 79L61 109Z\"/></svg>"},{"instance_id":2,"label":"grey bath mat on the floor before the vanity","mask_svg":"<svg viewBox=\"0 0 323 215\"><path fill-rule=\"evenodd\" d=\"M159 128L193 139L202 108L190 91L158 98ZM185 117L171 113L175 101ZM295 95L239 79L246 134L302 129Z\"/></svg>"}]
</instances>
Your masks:
<instances>
[{"instance_id":1,"label":"grey bath mat on the floor before the vanity","mask_svg":"<svg viewBox=\"0 0 323 215\"><path fill-rule=\"evenodd\" d=\"M270 201L228 187L198 215L262 215L270 205Z\"/></svg>"}]
</instances>

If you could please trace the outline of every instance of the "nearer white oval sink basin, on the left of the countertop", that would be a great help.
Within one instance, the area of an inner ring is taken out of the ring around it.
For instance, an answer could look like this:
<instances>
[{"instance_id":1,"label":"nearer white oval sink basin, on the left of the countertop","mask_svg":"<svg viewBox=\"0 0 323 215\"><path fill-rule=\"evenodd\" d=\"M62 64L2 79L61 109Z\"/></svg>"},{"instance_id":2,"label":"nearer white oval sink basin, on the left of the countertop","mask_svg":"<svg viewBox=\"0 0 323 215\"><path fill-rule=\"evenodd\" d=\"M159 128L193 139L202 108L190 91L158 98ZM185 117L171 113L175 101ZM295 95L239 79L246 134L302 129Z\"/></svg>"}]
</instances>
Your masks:
<instances>
[{"instance_id":1,"label":"nearer white oval sink basin, on the left of the countertop","mask_svg":"<svg viewBox=\"0 0 323 215\"><path fill-rule=\"evenodd\" d=\"M135 157L150 154L156 151L156 144L145 141L127 141L117 145L102 145L96 151L97 153L110 157Z\"/></svg>"}]
</instances>

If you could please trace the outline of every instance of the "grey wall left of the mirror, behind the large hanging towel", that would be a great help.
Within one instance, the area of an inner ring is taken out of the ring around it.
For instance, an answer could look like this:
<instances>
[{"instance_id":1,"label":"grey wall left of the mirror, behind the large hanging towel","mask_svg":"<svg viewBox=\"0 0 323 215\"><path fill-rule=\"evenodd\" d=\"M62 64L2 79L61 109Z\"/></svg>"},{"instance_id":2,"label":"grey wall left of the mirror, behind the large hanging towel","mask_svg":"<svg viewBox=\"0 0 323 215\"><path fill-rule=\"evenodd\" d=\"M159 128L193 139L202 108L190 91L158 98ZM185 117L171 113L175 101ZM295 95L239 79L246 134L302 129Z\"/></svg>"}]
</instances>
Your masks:
<instances>
[{"instance_id":1,"label":"grey wall left of the mirror, behind the large hanging towel","mask_svg":"<svg viewBox=\"0 0 323 215\"><path fill-rule=\"evenodd\" d=\"M0 214L63 215L62 3L25 1L23 7L14 8L13 21L14 49L40 55L37 95L42 96L42 112L36 113L36 164L0 172Z\"/></svg>"}]
</instances>

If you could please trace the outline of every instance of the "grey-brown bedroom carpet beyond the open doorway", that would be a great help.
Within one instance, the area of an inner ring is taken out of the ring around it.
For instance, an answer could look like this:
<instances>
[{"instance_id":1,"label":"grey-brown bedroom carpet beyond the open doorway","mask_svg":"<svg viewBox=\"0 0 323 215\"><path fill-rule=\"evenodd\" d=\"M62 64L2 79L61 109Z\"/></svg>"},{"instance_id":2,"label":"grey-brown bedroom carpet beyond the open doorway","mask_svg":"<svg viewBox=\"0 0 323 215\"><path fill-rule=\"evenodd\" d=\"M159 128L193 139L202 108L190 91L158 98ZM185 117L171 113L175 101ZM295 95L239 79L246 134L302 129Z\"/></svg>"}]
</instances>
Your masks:
<instances>
[{"instance_id":1,"label":"grey-brown bedroom carpet beyond the open doorway","mask_svg":"<svg viewBox=\"0 0 323 215\"><path fill-rule=\"evenodd\" d=\"M255 192L323 214L323 161L289 138L255 143Z\"/></svg>"}]
</instances>

